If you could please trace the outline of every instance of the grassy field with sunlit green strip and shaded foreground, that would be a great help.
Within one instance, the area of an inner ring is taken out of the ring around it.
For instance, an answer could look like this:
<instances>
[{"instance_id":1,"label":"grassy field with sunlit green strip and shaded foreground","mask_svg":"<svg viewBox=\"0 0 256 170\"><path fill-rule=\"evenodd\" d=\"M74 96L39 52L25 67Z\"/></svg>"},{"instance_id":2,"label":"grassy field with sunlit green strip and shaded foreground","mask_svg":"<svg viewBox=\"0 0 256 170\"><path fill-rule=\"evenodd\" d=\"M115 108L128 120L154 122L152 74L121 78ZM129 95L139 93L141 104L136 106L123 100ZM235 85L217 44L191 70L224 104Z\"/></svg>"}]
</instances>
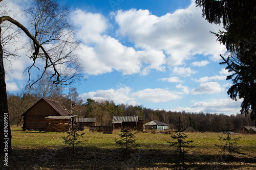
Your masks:
<instances>
[{"instance_id":1,"label":"grassy field with sunlit green strip and shaded foreground","mask_svg":"<svg viewBox=\"0 0 256 170\"><path fill-rule=\"evenodd\" d=\"M117 133L103 134L84 131L86 144L76 147L73 158L72 149L63 143L66 133L22 131L12 127L12 156L8 158L8 167L3 169L173 169L173 149L166 140L170 135L137 133L140 145L130 156L124 159L115 143ZM194 148L188 150L188 158L194 160L195 168L200 169L256 169L256 135L234 134L242 136L239 141L240 153L226 161L215 144L220 144L217 133L186 133L187 140L194 140ZM3 162L1 160L1 162Z\"/></svg>"}]
</instances>

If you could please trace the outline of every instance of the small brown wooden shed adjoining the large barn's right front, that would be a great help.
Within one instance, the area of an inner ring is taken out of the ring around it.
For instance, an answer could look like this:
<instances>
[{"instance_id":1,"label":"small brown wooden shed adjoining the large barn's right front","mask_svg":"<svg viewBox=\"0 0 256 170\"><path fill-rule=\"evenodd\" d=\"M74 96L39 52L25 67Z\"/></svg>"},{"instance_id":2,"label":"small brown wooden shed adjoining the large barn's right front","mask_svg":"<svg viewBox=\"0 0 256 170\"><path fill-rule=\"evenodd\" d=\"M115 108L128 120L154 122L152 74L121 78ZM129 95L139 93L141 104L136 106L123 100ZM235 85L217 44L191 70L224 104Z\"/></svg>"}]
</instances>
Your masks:
<instances>
[{"instance_id":1,"label":"small brown wooden shed adjoining the large barn's right front","mask_svg":"<svg viewBox=\"0 0 256 170\"><path fill-rule=\"evenodd\" d=\"M74 116L46 117L46 132L67 132L74 125Z\"/></svg>"}]
</instances>

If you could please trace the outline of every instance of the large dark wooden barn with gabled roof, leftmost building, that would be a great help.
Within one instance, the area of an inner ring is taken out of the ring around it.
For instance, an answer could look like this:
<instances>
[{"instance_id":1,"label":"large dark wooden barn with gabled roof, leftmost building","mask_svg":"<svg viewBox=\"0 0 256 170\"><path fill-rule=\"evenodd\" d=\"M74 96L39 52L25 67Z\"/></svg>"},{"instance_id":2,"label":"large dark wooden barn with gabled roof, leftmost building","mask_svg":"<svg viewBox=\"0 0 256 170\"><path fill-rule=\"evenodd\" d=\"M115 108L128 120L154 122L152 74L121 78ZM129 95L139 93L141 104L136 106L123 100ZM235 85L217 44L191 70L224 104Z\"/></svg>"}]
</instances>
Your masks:
<instances>
[{"instance_id":1,"label":"large dark wooden barn with gabled roof, leftmost building","mask_svg":"<svg viewBox=\"0 0 256 170\"><path fill-rule=\"evenodd\" d=\"M46 117L73 115L60 102L42 98L23 113L22 116L24 116L23 130L46 131Z\"/></svg>"}]
</instances>

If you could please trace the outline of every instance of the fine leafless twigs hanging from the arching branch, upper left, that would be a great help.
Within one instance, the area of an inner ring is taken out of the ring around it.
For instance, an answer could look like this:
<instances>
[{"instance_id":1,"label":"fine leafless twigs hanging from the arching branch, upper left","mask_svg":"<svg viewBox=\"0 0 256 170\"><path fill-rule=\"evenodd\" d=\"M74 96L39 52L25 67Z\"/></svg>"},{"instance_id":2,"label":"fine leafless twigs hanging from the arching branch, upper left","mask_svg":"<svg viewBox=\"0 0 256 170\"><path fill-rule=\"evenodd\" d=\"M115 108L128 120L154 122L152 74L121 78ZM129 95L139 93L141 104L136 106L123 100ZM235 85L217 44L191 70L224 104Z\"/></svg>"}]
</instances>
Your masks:
<instances>
[{"instance_id":1,"label":"fine leafless twigs hanging from the arching branch, upper left","mask_svg":"<svg viewBox=\"0 0 256 170\"><path fill-rule=\"evenodd\" d=\"M53 79L54 84L69 85L75 80L80 80L82 78L81 63L74 53L79 44L74 37L74 27L69 21L69 8L59 5L55 0L34 0L25 13L30 18L33 36L41 45L46 46L47 53L46 56L44 51L31 40L33 51L29 57L34 62L26 69L29 85L40 80L47 68L53 71L50 79ZM36 59L44 62L44 66L41 67L41 63L37 64ZM37 81L30 83L31 71L34 68L42 70L42 74Z\"/></svg>"}]
</instances>

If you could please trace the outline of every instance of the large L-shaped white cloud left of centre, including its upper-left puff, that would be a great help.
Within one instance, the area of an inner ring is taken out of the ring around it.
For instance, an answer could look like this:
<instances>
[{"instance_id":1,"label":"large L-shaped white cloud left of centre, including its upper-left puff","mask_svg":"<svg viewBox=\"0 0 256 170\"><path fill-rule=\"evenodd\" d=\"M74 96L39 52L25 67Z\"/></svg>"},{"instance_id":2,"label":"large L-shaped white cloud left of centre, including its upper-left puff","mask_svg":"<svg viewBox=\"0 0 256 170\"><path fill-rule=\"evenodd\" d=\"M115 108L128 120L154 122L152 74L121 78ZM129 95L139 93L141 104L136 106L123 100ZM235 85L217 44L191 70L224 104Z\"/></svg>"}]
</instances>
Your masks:
<instances>
[{"instance_id":1,"label":"large L-shaped white cloud left of centre, including its upper-left puff","mask_svg":"<svg viewBox=\"0 0 256 170\"><path fill-rule=\"evenodd\" d=\"M99 75L118 70L123 75L147 75L151 69L165 70L163 51L136 51L133 47L124 46L119 40L104 35L109 23L101 14L76 10L72 18L79 27L77 36L83 44L80 44L81 51L77 53L83 60L87 74Z\"/></svg>"}]
</instances>

